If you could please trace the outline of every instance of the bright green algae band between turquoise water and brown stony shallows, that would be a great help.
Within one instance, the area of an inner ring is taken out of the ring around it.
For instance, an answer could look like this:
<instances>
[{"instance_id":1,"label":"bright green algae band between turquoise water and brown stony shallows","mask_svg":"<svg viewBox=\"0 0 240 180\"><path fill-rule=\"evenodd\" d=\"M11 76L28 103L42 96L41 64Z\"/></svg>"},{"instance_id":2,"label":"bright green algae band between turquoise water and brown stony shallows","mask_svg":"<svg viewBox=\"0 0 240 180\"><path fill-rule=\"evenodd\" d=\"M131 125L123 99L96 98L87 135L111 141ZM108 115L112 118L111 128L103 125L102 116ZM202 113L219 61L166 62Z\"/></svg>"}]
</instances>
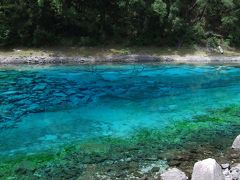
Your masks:
<instances>
[{"instance_id":1,"label":"bright green algae band between turquoise water and brown stony shallows","mask_svg":"<svg viewBox=\"0 0 240 180\"><path fill-rule=\"evenodd\" d=\"M194 163L200 156L218 158L219 153L224 153L239 134L239 127L240 107L227 106L192 119L177 121L163 129L139 129L126 139L102 137L71 143L45 153L2 159L0 178L17 177L17 174L29 176L28 173L41 172L38 169L44 170L48 165L58 168L67 162L76 166L128 157L141 157L141 161L155 156L168 159L171 152L197 151L188 163ZM22 173L23 170L27 172Z\"/></svg>"}]
</instances>

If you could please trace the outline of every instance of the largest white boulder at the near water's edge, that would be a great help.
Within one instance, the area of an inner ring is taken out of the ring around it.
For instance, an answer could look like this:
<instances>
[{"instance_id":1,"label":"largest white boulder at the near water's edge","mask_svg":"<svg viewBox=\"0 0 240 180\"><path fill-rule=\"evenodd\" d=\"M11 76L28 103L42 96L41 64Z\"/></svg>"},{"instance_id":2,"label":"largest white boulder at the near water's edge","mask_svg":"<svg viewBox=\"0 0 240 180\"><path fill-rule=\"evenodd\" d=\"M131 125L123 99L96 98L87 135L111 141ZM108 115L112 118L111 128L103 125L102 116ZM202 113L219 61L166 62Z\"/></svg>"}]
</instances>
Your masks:
<instances>
[{"instance_id":1,"label":"largest white boulder at the near water's edge","mask_svg":"<svg viewBox=\"0 0 240 180\"><path fill-rule=\"evenodd\" d=\"M209 158L194 164L192 180L224 180L224 175L215 159Z\"/></svg>"}]
</instances>

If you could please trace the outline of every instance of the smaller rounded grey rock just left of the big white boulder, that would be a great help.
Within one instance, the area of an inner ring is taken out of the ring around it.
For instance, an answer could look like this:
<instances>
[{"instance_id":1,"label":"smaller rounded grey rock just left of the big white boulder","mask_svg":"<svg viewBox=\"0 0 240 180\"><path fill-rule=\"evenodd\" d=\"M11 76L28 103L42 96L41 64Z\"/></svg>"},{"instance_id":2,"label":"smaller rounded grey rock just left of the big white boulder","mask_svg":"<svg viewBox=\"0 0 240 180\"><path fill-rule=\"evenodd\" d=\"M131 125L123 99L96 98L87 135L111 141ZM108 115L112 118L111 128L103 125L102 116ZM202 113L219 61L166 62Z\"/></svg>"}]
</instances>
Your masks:
<instances>
[{"instance_id":1,"label":"smaller rounded grey rock just left of the big white boulder","mask_svg":"<svg viewBox=\"0 0 240 180\"><path fill-rule=\"evenodd\" d=\"M163 174L161 174L162 180L187 180L188 177L182 171L177 168L170 168Z\"/></svg>"}]
</instances>

